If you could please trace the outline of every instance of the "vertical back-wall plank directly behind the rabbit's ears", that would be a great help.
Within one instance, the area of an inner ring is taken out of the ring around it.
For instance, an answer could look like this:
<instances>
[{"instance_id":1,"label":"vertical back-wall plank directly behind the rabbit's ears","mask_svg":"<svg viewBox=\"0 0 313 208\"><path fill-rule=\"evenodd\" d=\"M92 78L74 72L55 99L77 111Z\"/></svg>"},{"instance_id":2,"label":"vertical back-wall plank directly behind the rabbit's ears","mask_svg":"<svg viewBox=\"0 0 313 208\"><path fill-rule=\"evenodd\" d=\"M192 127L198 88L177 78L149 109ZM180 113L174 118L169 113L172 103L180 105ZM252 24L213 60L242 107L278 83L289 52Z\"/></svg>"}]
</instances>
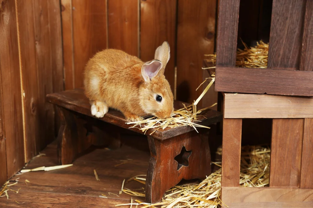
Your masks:
<instances>
[{"instance_id":1,"label":"vertical back-wall plank directly behind the rabbit's ears","mask_svg":"<svg viewBox=\"0 0 313 208\"><path fill-rule=\"evenodd\" d=\"M171 57L165 69L165 77L174 92L176 58L176 1L146 0L140 8L140 58L147 62L154 59L154 52L164 41L170 45Z\"/></svg>"}]
</instances>

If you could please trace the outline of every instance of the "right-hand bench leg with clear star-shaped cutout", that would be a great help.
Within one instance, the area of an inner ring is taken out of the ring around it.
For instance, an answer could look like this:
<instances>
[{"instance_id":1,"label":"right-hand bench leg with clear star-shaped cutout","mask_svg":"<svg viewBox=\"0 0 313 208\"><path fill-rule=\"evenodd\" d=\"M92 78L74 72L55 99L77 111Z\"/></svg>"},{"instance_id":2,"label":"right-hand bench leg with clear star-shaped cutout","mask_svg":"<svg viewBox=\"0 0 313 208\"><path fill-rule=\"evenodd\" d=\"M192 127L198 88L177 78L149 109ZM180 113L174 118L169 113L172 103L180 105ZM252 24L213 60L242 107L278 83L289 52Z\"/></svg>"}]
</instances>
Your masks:
<instances>
[{"instance_id":1,"label":"right-hand bench leg with clear star-shaped cutout","mask_svg":"<svg viewBox=\"0 0 313 208\"><path fill-rule=\"evenodd\" d=\"M208 136L188 132L160 141L148 136L151 152L146 178L146 202L156 203L182 179L204 179L211 173Z\"/></svg>"}]
</instances>

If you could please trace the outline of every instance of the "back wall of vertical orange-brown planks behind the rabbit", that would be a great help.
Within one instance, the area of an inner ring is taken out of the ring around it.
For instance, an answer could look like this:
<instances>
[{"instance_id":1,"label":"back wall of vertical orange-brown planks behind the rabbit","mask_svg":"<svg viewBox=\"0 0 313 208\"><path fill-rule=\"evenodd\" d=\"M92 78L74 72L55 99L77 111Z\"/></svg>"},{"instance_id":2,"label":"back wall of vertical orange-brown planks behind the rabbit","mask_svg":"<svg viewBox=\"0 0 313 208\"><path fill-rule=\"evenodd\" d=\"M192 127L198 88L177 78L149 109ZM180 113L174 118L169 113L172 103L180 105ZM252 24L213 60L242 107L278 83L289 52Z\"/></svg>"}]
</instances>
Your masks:
<instances>
[{"instance_id":1,"label":"back wall of vertical orange-brown planks behind the rabbit","mask_svg":"<svg viewBox=\"0 0 313 208\"><path fill-rule=\"evenodd\" d=\"M86 62L102 49L121 49L146 62L163 41L171 48L165 76L172 91L177 88L177 100L192 102L206 87L196 91L209 76L201 67L204 54L214 52L217 0L61 0L61 4L65 89L83 86ZM211 91L205 106L217 100Z\"/></svg>"}]
</instances>

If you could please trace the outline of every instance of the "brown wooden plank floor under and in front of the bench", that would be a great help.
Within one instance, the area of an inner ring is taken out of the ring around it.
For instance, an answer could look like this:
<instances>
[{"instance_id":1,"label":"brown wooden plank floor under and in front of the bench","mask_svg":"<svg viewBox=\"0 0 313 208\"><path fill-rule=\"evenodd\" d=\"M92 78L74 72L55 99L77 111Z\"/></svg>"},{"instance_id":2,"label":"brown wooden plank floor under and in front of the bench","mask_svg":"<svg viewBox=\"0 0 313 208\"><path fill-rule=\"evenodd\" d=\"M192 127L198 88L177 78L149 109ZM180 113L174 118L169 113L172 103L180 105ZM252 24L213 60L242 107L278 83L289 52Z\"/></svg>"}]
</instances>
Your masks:
<instances>
[{"instance_id":1,"label":"brown wooden plank floor under and in front of the bench","mask_svg":"<svg viewBox=\"0 0 313 208\"><path fill-rule=\"evenodd\" d=\"M211 147L214 148L214 145ZM46 155L34 158L25 168L58 165L55 142L48 145L42 153ZM19 178L19 182L10 188L21 189L18 194L8 191L9 199L1 197L0 207L115 207L117 204L130 203L131 197L134 201L136 199L144 201L144 197L130 196L125 193L119 195L119 191L124 179L141 174L146 175L149 158L150 152L145 137L124 136L121 148L113 150L103 147L90 148L90 151L77 158L71 167L14 176L11 180ZM121 164L124 161L128 162ZM96 181L94 169L100 181ZM26 179L30 181L27 185ZM143 192L143 189L138 189L144 186L137 181L130 181L124 187ZM108 198L99 197L101 194Z\"/></svg>"}]
</instances>

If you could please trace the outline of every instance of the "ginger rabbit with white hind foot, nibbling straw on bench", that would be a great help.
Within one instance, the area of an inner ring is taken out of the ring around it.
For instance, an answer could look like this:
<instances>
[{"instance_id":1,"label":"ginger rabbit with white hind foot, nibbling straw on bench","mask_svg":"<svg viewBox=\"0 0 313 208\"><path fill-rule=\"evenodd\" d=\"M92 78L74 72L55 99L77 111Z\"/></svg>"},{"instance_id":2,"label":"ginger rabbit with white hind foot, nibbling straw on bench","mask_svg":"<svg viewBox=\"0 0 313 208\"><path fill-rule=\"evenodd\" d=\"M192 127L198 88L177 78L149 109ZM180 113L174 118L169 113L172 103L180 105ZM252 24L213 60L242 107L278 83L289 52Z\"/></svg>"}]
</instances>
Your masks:
<instances>
[{"instance_id":1,"label":"ginger rabbit with white hind foot, nibbling straw on bench","mask_svg":"<svg viewBox=\"0 0 313 208\"><path fill-rule=\"evenodd\" d=\"M171 116L173 94L164 76L169 59L166 41L156 49L154 60L146 63L117 49L96 53L84 71L91 114L101 118L113 108L121 111L127 121L138 121L148 115L161 119Z\"/></svg>"}]
</instances>

